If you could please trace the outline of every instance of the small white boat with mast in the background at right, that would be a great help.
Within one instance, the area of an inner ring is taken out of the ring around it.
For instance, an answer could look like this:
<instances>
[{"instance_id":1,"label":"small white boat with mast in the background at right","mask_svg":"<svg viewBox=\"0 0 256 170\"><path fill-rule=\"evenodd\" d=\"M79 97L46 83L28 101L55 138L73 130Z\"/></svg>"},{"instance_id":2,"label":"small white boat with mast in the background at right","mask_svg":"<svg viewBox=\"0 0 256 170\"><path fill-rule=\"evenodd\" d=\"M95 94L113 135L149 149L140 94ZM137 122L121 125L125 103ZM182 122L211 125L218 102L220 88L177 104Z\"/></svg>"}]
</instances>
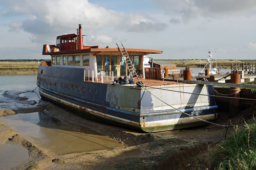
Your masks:
<instances>
[{"instance_id":1,"label":"small white boat with mast in the background at right","mask_svg":"<svg viewBox=\"0 0 256 170\"><path fill-rule=\"evenodd\" d=\"M208 52L208 57L207 58L207 63L203 67L203 69L198 73L198 76L205 76L205 69L209 69L209 75L216 75L216 74L222 74L224 72L221 72L218 69L217 61L212 59L212 51ZM216 53L215 53L215 58L216 58ZM214 67L214 61L216 61L216 66Z\"/></svg>"}]
</instances>

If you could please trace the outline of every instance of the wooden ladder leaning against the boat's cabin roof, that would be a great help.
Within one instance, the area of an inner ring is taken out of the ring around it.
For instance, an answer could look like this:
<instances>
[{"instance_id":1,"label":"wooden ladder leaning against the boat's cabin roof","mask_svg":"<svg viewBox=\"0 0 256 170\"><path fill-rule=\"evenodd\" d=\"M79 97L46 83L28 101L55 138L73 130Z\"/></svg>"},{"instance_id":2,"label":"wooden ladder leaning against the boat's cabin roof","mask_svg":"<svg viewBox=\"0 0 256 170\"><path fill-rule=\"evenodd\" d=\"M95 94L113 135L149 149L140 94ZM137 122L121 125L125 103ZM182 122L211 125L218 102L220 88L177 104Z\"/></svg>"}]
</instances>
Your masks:
<instances>
[{"instance_id":1,"label":"wooden ladder leaning against the boat's cabin roof","mask_svg":"<svg viewBox=\"0 0 256 170\"><path fill-rule=\"evenodd\" d=\"M125 64L126 64L128 70L129 70L129 73L130 73L132 79L133 79L133 77L136 77L139 80L139 77L138 77L138 75L135 71L135 68L134 68L134 65L131 61L131 58L129 57L125 47L122 44L122 42L121 42L121 45L118 45L117 43L116 43L116 45L117 45L120 53L122 54L123 60L125 61Z\"/></svg>"}]
</instances>

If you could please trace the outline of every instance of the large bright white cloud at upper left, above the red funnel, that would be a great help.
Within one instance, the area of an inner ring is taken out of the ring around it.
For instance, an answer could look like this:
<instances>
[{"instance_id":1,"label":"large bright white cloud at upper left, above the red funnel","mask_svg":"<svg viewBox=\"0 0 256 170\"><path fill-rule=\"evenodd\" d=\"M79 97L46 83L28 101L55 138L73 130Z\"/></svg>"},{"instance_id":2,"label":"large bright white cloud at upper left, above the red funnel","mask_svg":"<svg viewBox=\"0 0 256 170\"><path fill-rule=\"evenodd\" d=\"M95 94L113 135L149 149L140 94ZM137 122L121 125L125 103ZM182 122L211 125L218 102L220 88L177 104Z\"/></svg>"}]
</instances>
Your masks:
<instances>
[{"instance_id":1,"label":"large bright white cloud at upper left, above the red funnel","mask_svg":"<svg viewBox=\"0 0 256 170\"><path fill-rule=\"evenodd\" d=\"M88 0L44 0L36 3L34 0L3 0L0 5L5 11L2 15L18 18L18 21L10 23L10 30L31 33L32 40L38 43L48 37L76 32L78 23L82 23L83 29L93 32L104 28L157 32L166 28L164 23L145 14L117 12Z\"/></svg>"}]
</instances>

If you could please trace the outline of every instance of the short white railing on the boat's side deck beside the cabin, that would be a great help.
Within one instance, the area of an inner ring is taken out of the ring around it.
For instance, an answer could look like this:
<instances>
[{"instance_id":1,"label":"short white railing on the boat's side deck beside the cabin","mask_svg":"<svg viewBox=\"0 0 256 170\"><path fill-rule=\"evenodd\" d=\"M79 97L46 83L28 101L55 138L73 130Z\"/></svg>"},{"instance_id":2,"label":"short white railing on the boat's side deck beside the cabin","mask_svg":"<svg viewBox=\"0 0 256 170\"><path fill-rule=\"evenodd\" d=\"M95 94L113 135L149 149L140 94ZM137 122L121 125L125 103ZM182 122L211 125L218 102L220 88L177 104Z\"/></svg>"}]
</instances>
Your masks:
<instances>
[{"instance_id":1,"label":"short white railing on the boat's side deck beside the cabin","mask_svg":"<svg viewBox=\"0 0 256 170\"><path fill-rule=\"evenodd\" d=\"M113 82L114 81L114 72L113 71L97 71L94 70L83 70L83 81L91 81L91 82Z\"/></svg>"}]
</instances>

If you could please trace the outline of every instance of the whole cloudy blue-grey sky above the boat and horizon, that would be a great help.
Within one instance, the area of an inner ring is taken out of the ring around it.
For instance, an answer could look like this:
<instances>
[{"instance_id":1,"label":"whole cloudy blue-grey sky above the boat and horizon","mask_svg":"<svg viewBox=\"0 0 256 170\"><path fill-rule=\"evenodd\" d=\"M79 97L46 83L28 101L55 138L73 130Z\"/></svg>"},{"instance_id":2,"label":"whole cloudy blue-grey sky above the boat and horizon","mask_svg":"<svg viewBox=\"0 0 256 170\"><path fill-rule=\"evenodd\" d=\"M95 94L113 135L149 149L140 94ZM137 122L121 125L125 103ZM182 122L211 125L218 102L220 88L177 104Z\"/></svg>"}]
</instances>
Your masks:
<instances>
[{"instance_id":1,"label":"whole cloudy blue-grey sky above the boat and horizon","mask_svg":"<svg viewBox=\"0 0 256 170\"><path fill-rule=\"evenodd\" d=\"M256 59L256 0L0 0L0 59L49 59L43 44L161 50L154 59Z\"/></svg>"}]
</instances>

